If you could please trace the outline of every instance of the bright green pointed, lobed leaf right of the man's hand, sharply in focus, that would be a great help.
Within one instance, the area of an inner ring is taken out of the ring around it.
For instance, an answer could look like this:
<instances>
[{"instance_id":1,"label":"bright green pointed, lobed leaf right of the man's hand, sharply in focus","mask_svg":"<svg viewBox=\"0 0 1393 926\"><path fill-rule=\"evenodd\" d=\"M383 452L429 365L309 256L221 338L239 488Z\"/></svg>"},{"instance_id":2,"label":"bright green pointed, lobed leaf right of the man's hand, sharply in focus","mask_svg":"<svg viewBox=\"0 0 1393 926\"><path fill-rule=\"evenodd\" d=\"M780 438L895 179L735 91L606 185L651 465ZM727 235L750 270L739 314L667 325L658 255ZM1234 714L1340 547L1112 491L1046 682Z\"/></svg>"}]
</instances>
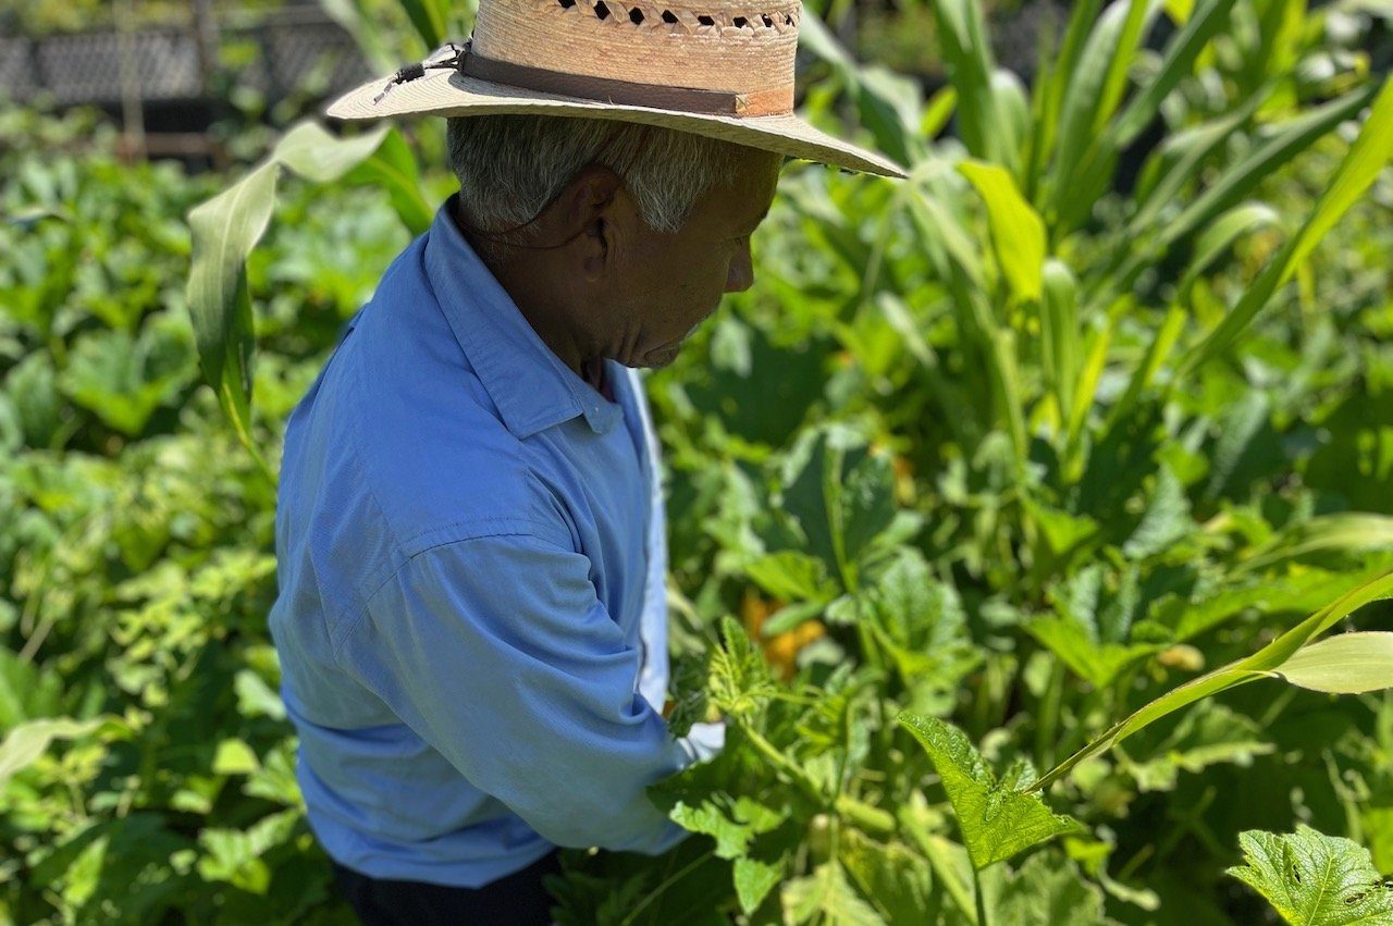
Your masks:
<instances>
[{"instance_id":1,"label":"bright green pointed, lobed leaf right of the man's hand, sharply in focus","mask_svg":"<svg viewBox=\"0 0 1393 926\"><path fill-rule=\"evenodd\" d=\"M957 727L908 712L896 720L919 741L943 780L975 868L983 869L1061 833L1082 830L1077 820L1045 806L1039 795L1020 790L1034 777L1028 766L1015 766L997 781Z\"/></svg>"}]
</instances>

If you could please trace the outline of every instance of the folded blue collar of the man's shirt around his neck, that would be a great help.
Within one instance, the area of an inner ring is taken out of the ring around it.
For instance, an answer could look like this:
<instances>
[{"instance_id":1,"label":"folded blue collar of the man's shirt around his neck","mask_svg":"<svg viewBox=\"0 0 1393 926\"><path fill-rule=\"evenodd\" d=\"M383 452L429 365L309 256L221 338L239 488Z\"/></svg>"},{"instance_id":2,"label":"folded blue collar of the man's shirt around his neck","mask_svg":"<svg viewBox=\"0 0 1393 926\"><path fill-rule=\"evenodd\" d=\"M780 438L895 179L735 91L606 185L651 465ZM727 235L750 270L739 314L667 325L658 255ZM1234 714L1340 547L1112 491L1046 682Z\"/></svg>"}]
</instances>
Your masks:
<instances>
[{"instance_id":1,"label":"folded blue collar of the man's shirt around his neck","mask_svg":"<svg viewBox=\"0 0 1393 926\"><path fill-rule=\"evenodd\" d=\"M440 206L426 233L426 277L503 423L521 440L584 415L591 430L609 433L623 409L566 366L532 330L454 224L450 213L457 198Z\"/></svg>"}]
</instances>

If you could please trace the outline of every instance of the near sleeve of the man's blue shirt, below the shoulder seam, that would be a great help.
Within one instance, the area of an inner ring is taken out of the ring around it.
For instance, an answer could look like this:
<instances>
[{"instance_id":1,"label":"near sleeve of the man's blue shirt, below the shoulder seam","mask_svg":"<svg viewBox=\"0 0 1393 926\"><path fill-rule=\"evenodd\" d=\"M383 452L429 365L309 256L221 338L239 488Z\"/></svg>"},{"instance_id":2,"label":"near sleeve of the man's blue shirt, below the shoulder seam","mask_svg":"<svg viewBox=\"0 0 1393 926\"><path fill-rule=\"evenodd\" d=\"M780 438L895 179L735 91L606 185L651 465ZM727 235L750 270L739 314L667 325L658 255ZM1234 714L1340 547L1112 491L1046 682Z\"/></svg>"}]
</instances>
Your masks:
<instances>
[{"instance_id":1,"label":"near sleeve of the man's blue shirt, below the shoulder seam","mask_svg":"<svg viewBox=\"0 0 1393 926\"><path fill-rule=\"evenodd\" d=\"M589 572L529 533L432 547L372 596L340 661L547 841L659 855L690 833L645 788L709 752L634 691L639 653Z\"/></svg>"}]
</instances>

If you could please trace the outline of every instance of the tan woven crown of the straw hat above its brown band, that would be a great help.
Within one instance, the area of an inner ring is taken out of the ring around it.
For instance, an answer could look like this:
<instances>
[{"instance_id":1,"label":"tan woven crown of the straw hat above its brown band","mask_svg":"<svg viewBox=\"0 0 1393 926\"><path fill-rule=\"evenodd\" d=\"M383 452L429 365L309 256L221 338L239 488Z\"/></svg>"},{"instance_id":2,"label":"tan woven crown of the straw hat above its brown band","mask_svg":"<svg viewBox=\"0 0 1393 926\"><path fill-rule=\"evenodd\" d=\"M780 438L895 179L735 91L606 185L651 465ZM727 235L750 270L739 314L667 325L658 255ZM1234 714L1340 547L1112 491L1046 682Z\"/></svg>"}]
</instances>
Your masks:
<instances>
[{"instance_id":1,"label":"tan woven crown of the straw hat above its brown band","mask_svg":"<svg viewBox=\"0 0 1393 926\"><path fill-rule=\"evenodd\" d=\"M481 0L471 47L607 81L786 92L791 104L801 18L800 0Z\"/></svg>"}]
</instances>

